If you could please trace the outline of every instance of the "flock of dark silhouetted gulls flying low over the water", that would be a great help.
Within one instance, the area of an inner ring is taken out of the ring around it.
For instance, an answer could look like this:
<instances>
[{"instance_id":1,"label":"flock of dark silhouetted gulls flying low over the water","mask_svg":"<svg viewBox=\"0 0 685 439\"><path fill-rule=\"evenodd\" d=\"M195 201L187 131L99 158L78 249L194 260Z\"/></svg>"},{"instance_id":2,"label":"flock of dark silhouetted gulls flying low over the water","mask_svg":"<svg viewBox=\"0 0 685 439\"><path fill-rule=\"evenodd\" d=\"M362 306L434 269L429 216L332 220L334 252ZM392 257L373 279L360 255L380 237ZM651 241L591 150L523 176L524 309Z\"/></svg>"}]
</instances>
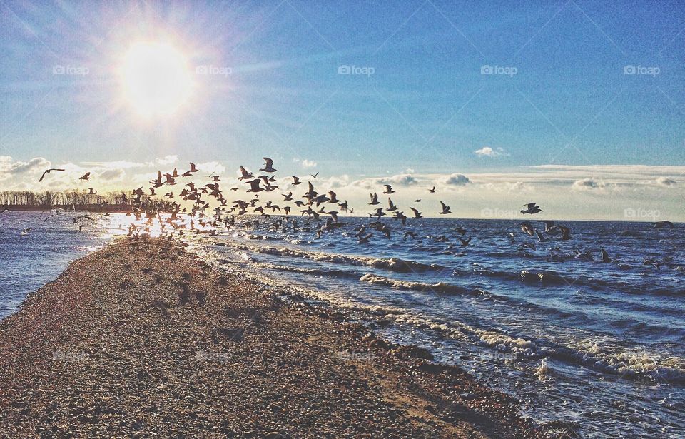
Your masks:
<instances>
[{"instance_id":1,"label":"flock of dark silhouetted gulls flying low over the water","mask_svg":"<svg viewBox=\"0 0 685 439\"><path fill-rule=\"evenodd\" d=\"M188 171L179 173L176 168L173 169L171 173L157 172L156 178L151 180L149 183L151 186L148 188L149 193L143 190L143 187L136 188L127 197L126 194L122 194L123 203L131 204L131 212L127 215L133 215L138 220L138 223L132 223L128 235L132 236L134 234L149 233L151 227L153 226L153 221L157 219L161 226L163 233L167 236L173 236L173 233L178 233L183 235L184 231L191 231L196 233L210 233L215 235L220 228L232 229L238 227L236 224L235 216L243 216L246 214L259 214L263 218L271 218L278 211L281 218L276 219L270 225L273 227L274 231L285 231L286 228L290 227L292 231L304 231L313 232L320 238L324 233L330 231L335 231L345 226L345 223L340 221L340 213L353 213L354 209L348 206L347 201L342 201L338 198L338 194L333 190L328 192L320 193L316 190L313 180L317 178L318 173L310 175L311 179L306 182L307 191L305 191L298 198L293 198L293 191L288 191L288 193L281 193L283 196L283 201L281 203L275 203L273 201L263 201L260 199L260 193L268 193L276 191L279 189L276 184L276 179L274 174L278 172L278 169L273 167L273 160L268 157L263 158L265 163L263 168L259 171L262 173L255 176L253 172L248 171L244 166L240 166L240 176L238 176L238 183L242 183L243 186L246 185L245 197L236 197L237 199L229 201L226 198L226 193L220 186L223 184L221 177L214 175L213 173L207 178L210 178L210 182L201 186L193 181L188 181L184 183L184 179L191 178L196 173L199 172L195 163L189 163L190 168ZM61 168L49 168L44 171L39 179L39 182L43 181L48 173L51 172L61 172L65 169ZM81 181L88 181L91 178L91 173L85 173L79 178ZM290 182L290 187L295 189L305 182L302 178L298 176L291 176L293 181ZM182 185L182 186L181 186ZM174 190L174 186L181 186L181 190ZM240 191L240 184L237 186L230 187L231 192ZM355 229L355 236L358 243L365 244L369 243L371 238L374 236L374 232L381 233L382 236L390 238L392 233L391 226L381 221L381 218L388 216L393 218L395 221L400 221L404 226L407 221L415 221L417 219L423 218L422 212L416 207L410 207L412 211L411 216L406 216L404 211L400 211L400 208L392 201L390 196L396 193L390 184L382 185L384 190L382 195L387 196L387 207L383 207L382 202L379 200L380 196L377 192L370 193L369 206L372 206L372 212L368 213L369 218L375 218L375 221L357 227ZM164 188L161 193L157 193L160 188ZM95 194L97 191L93 191L93 188L88 188L90 194ZM428 188L428 193L435 193L435 186ZM415 203L420 203L420 199L415 199ZM215 204L217 207L213 208L213 215L208 215L206 212L211 210L211 205ZM188 207L190 210L188 210ZM377 207L379 206L379 207ZM76 206L74 211L76 211ZM542 208L537 203L527 203L522 207L521 213L526 215L535 215L542 212ZM294 208L300 209L300 216L307 216L308 222L303 226L298 224L297 219L292 218L290 213L293 212ZM56 208L52 211L51 216L59 215L64 213L60 208ZM162 214L168 214L166 218L163 218ZM440 211L437 212L440 215L449 215L452 213L450 206L447 206L443 201L440 201ZM108 214L108 213L107 213ZM181 216L189 216L190 222L181 221ZM389 216L392 215L392 216ZM322 216L326 219L322 223ZM145 217L146 221L141 223L141 219ZM198 224L201 227L196 227L195 219L198 219ZM73 218L73 223L78 224L79 229L82 229L84 224L79 223L80 220L93 221L93 218L87 215L77 216ZM522 221L518 223L521 231L527 233L529 236L537 237L539 242L548 241L552 238L557 238L559 241L568 241L572 239L571 229L563 224L554 223L554 221L537 221L541 223L544 228L538 230L536 226L531 221ZM252 218L251 221L244 221L240 224L243 228L257 228L260 226L259 218ZM673 228L673 224L669 221L659 221L654 223L655 228L670 227ZM465 228L457 227L455 232L459 233L461 236L457 236L460 241L461 246L468 246L471 243L472 237L465 237L467 231ZM408 238L416 239L417 233L415 231L405 231L403 234L403 239ZM449 241L446 236L436 236L433 237L435 241ZM512 243L514 243L514 233L509 233L509 238ZM534 243L526 242L522 243L520 246L523 248L534 248ZM589 255L587 253L582 253L577 251L577 257L587 258ZM592 259L592 257L589 257ZM608 253L601 249L601 260L602 262L610 262L612 259L609 257ZM651 263L651 261L646 261L646 263Z\"/></svg>"}]
</instances>

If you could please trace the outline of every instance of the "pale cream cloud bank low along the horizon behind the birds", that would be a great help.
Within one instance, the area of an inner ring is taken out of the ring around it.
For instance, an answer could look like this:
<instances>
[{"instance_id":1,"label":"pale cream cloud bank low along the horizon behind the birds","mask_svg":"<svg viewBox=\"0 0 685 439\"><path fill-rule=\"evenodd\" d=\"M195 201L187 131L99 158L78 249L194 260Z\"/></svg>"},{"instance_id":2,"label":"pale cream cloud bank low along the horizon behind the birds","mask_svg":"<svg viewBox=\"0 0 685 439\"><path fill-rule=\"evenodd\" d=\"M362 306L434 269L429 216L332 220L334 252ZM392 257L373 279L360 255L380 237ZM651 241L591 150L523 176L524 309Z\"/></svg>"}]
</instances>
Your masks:
<instances>
[{"instance_id":1,"label":"pale cream cloud bank low along the horizon behind the birds","mask_svg":"<svg viewBox=\"0 0 685 439\"><path fill-rule=\"evenodd\" d=\"M278 167L277 181L280 191L263 194L265 200L280 201L280 193L301 187L292 186L290 175L312 181L318 190L333 190L338 198L350 202L355 214L365 215L369 193L382 196L383 185L390 184L396 193L392 201L408 211L415 206L425 216L437 216L439 201L452 206L456 216L464 218L519 219L525 218L519 206L530 201L542 204L544 213L539 218L592 219L627 221L685 221L685 166L562 166L544 165L514 168L495 173L398 173L389 176L356 176L347 174L319 175L311 178L308 171L313 161L293 160L298 166ZM41 173L51 166L66 169L64 173L51 173L43 183L37 183ZM51 163L43 157L29 161L16 161L0 156L0 191L63 191L88 187L98 192L131 191L149 186L157 171L183 171L188 163L176 155L156 158L148 162L109 161L93 163ZM245 185L236 179L240 163L209 161L197 163L203 176L220 175L225 187ZM258 166L245 166L256 171ZM85 172L91 172L91 181L78 181ZM201 178L192 178L201 181ZM188 181L191 179L189 178ZM183 182L183 181L181 181ZM436 193L428 190L435 186ZM179 187L179 186L176 186ZM180 190L180 189L179 189ZM240 192L242 194L242 192ZM238 193L236 193L238 196ZM422 201L415 202L420 199ZM644 213L644 214L643 214Z\"/></svg>"}]
</instances>

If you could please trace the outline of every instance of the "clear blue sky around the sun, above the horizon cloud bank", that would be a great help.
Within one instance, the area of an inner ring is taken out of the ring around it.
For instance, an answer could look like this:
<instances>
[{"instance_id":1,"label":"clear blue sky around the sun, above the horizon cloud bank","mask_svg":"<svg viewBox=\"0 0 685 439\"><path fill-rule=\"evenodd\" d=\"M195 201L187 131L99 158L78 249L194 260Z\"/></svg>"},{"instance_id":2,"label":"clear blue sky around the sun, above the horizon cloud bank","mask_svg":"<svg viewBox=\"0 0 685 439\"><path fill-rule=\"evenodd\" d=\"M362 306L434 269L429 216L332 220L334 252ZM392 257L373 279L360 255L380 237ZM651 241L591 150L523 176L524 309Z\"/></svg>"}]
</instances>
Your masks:
<instances>
[{"instance_id":1,"label":"clear blue sky around the sun, above the horizon cloud bank","mask_svg":"<svg viewBox=\"0 0 685 439\"><path fill-rule=\"evenodd\" d=\"M679 2L1 1L0 24L6 169L178 156L233 172L267 155L355 181L685 166ZM141 120L116 77L138 41L230 74L193 74L180 110ZM663 172L682 186L679 169Z\"/></svg>"}]
</instances>

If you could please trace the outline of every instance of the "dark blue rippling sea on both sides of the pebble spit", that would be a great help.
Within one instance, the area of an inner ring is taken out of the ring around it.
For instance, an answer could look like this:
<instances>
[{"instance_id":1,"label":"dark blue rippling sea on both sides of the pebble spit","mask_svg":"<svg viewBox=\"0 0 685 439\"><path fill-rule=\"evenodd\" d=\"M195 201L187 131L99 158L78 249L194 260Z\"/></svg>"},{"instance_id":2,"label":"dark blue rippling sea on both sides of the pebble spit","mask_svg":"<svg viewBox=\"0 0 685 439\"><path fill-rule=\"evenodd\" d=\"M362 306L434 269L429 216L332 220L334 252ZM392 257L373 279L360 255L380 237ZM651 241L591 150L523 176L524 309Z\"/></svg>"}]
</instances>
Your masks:
<instances>
[{"instance_id":1,"label":"dark blue rippling sea on both sides of the pebble spit","mask_svg":"<svg viewBox=\"0 0 685 439\"><path fill-rule=\"evenodd\" d=\"M83 214L0 214L0 318L136 221ZM540 240L520 219L384 218L390 237L373 221L341 216L316 233L324 221L244 216L177 238L286 299L430 350L536 422L582 438L685 437L685 224L559 221L570 238Z\"/></svg>"}]
</instances>

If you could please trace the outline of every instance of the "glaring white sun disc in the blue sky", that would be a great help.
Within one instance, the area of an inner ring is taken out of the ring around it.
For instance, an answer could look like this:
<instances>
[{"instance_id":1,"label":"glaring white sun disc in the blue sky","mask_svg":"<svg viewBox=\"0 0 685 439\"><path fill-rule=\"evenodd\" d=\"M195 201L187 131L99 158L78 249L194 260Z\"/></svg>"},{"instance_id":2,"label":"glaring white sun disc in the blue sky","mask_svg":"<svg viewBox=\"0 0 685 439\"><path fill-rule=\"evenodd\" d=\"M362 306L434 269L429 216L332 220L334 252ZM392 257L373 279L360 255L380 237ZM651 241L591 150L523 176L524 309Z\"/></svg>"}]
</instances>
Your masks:
<instances>
[{"instance_id":1,"label":"glaring white sun disc in the blue sky","mask_svg":"<svg viewBox=\"0 0 685 439\"><path fill-rule=\"evenodd\" d=\"M136 43L121 65L126 100L146 117L170 116L191 96L186 57L165 43Z\"/></svg>"}]
</instances>

